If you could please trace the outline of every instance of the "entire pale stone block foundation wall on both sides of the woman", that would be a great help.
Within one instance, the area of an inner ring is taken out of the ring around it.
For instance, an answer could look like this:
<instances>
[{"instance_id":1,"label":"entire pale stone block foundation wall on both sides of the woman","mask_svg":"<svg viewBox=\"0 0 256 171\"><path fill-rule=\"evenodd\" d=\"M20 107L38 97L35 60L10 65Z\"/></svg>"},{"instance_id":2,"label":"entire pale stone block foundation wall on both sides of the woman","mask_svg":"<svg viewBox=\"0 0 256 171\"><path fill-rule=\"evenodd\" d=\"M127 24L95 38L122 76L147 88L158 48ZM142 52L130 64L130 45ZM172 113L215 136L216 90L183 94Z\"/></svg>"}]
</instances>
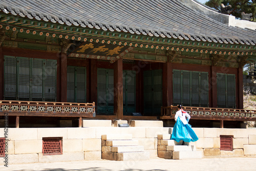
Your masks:
<instances>
[{"instance_id":1,"label":"entire pale stone block foundation wall on both sides of the woman","mask_svg":"<svg viewBox=\"0 0 256 171\"><path fill-rule=\"evenodd\" d=\"M172 127L69 127L9 128L8 164L101 159L102 135L131 134L150 158L157 157L158 135L172 134ZM197 151L203 157L256 156L256 129L193 128L199 137ZM220 135L233 136L233 151L220 150ZM4 129L0 129L0 138ZM62 155L42 155L42 138L61 137ZM0 162L4 162L0 158Z\"/></svg>"}]
</instances>

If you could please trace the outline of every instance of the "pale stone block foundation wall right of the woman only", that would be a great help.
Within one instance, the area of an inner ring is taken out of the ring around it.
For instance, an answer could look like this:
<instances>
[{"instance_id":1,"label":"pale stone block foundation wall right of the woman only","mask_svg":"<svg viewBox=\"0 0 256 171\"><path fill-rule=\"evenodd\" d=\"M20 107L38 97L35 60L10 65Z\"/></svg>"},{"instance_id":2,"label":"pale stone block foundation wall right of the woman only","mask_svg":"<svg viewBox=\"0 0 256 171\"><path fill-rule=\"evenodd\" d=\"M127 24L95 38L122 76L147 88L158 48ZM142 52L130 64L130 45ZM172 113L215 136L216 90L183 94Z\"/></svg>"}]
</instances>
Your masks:
<instances>
[{"instance_id":1,"label":"pale stone block foundation wall right of the woman only","mask_svg":"<svg viewBox=\"0 0 256 171\"><path fill-rule=\"evenodd\" d=\"M256 139L254 139L256 138L256 129L193 128L193 130L199 140L191 142L190 145L196 145L197 150L201 150L204 157L256 155L256 151L250 154L245 151L245 148L253 148L252 144L256 144ZM233 136L233 151L220 150L220 135Z\"/></svg>"}]
</instances>

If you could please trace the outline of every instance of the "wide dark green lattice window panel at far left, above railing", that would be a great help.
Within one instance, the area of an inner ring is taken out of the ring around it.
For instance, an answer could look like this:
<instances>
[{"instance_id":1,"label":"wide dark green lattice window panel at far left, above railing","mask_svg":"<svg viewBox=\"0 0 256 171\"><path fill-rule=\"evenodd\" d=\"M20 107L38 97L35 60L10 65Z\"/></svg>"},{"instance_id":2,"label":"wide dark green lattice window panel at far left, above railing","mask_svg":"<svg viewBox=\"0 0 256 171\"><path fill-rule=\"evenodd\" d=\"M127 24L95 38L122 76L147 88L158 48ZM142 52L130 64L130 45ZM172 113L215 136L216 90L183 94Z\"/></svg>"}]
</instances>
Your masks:
<instances>
[{"instance_id":1,"label":"wide dark green lattice window panel at far left, above railing","mask_svg":"<svg viewBox=\"0 0 256 171\"><path fill-rule=\"evenodd\" d=\"M56 101L57 61L5 56L4 99Z\"/></svg>"}]
</instances>

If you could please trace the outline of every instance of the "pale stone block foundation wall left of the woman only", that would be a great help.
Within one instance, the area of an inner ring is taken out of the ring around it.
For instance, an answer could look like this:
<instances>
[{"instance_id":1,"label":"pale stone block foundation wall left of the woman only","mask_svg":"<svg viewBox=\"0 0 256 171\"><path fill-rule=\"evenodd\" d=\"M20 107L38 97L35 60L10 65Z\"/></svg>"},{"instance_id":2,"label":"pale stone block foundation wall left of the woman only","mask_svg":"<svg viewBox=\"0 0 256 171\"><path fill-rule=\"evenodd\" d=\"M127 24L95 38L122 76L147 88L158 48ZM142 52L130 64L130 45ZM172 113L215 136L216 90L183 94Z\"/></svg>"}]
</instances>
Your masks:
<instances>
[{"instance_id":1,"label":"pale stone block foundation wall left of the woman only","mask_svg":"<svg viewBox=\"0 0 256 171\"><path fill-rule=\"evenodd\" d=\"M131 134L150 157L157 157L157 135L170 134L169 127L68 127L68 128L9 128L8 164L59 162L101 159L101 135ZM4 128L0 129L0 138ZM61 137L61 155L43 155L42 138ZM0 157L0 162L4 162Z\"/></svg>"}]
</instances>

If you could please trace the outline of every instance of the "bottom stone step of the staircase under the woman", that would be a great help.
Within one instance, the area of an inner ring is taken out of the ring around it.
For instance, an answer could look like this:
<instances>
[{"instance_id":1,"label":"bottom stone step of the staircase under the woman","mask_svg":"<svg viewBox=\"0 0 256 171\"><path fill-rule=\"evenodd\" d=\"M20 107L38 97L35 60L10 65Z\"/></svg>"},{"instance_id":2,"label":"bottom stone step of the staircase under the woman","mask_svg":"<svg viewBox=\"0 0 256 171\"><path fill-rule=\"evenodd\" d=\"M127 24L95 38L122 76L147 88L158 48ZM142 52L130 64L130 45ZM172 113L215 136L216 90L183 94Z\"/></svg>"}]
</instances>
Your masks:
<instances>
[{"instance_id":1,"label":"bottom stone step of the staircase under the woman","mask_svg":"<svg viewBox=\"0 0 256 171\"><path fill-rule=\"evenodd\" d=\"M200 151L174 151L173 159L202 159L202 152Z\"/></svg>"}]
</instances>

